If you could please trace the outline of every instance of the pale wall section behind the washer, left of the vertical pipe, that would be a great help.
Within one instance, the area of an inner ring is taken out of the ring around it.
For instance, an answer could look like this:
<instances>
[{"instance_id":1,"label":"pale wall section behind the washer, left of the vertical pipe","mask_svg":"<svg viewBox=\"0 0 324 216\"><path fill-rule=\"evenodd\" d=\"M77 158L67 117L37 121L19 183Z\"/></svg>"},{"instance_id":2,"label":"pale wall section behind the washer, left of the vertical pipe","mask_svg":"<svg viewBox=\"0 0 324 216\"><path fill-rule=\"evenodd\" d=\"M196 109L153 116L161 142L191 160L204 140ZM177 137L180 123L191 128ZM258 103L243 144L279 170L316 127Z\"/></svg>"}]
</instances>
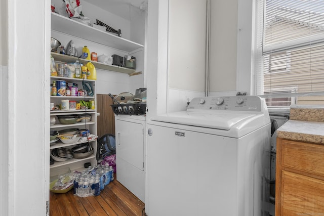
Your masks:
<instances>
[{"instance_id":1,"label":"pale wall section behind the washer, left of the vertical pipe","mask_svg":"<svg viewBox=\"0 0 324 216\"><path fill-rule=\"evenodd\" d=\"M207 1L169 1L167 112L205 96Z\"/></svg>"}]
</instances>

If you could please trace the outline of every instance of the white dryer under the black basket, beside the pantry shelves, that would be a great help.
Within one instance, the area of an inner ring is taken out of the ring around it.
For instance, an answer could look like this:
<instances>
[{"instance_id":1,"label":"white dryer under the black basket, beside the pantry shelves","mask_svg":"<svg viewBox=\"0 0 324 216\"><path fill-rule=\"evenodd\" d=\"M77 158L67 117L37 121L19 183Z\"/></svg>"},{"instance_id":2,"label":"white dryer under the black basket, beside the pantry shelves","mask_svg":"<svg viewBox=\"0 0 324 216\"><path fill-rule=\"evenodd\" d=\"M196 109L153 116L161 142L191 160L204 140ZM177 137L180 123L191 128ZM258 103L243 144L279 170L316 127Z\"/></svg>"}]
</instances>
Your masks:
<instances>
[{"instance_id":1,"label":"white dryer under the black basket, beside the pantry shelves","mask_svg":"<svg viewBox=\"0 0 324 216\"><path fill-rule=\"evenodd\" d=\"M115 115L116 178L145 200L146 116Z\"/></svg>"}]
</instances>

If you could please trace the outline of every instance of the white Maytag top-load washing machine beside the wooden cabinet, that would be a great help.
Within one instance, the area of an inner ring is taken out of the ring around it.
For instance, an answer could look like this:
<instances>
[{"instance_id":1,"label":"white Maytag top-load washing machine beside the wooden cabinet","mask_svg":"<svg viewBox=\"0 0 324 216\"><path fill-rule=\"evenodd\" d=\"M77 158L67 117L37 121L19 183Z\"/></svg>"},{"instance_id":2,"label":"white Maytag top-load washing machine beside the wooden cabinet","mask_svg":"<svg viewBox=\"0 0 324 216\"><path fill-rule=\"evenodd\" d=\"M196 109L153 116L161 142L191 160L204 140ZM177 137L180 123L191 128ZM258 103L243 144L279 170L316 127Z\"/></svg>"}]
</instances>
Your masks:
<instances>
[{"instance_id":1,"label":"white Maytag top-load washing machine beside the wooden cabinet","mask_svg":"<svg viewBox=\"0 0 324 216\"><path fill-rule=\"evenodd\" d=\"M256 96L194 98L147 124L148 216L260 216L271 124Z\"/></svg>"}]
</instances>

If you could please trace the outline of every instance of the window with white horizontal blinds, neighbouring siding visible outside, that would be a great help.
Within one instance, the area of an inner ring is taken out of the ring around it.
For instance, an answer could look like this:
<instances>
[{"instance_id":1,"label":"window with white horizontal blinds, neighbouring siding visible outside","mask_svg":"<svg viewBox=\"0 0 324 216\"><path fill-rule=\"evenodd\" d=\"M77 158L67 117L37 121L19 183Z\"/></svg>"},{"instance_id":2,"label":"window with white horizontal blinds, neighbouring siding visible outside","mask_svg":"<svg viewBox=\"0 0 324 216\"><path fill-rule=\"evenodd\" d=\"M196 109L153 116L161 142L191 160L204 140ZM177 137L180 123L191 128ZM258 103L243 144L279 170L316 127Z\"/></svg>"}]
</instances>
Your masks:
<instances>
[{"instance_id":1,"label":"window with white horizontal blinds, neighbouring siding visible outside","mask_svg":"<svg viewBox=\"0 0 324 216\"><path fill-rule=\"evenodd\" d=\"M324 104L324 0L257 0L255 91L268 106Z\"/></svg>"}]
</instances>

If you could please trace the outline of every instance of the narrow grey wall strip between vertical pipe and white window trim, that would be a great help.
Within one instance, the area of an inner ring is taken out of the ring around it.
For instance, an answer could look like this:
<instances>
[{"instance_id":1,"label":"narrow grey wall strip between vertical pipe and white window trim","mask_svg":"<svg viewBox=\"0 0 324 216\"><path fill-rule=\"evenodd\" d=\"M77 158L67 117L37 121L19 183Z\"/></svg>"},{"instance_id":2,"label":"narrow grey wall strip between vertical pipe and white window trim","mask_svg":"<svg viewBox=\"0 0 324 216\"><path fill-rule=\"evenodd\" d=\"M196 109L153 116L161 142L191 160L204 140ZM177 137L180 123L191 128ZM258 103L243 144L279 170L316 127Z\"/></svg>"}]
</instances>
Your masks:
<instances>
[{"instance_id":1,"label":"narrow grey wall strip between vertical pipe and white window trim","mask_svg":"<svg viewBox=\"0 0 324 216\"><path fill-rule=\"evenodd\" d=\"M237 0L210 2L209 91L235 91Z\"/></svg>"}]
</instances>

